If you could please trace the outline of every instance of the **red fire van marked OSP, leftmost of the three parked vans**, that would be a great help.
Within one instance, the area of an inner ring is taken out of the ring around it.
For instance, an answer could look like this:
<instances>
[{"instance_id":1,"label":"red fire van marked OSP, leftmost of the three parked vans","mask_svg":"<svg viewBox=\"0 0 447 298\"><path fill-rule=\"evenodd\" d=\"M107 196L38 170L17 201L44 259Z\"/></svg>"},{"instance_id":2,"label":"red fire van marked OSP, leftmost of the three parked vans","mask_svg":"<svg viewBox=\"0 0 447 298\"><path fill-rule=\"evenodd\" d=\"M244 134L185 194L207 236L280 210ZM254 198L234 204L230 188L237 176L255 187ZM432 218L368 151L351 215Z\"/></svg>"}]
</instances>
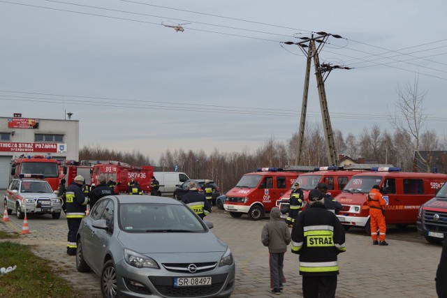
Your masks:
<instances>
[{"instance_id":1,"label":"red fire van marked OSP, leftmost of the three parked vans","mask_svg":"<svg viewBox=\"0 0 447 298\"><path fill-rule=\"evenodd\" d=\"M244 174L236 186L226 193L223 209L232 217L248 214L259 221L276 206L276 202L293 185L298 172L277 167L260 167L257 172Z\"/></svg>"}]
</instances>

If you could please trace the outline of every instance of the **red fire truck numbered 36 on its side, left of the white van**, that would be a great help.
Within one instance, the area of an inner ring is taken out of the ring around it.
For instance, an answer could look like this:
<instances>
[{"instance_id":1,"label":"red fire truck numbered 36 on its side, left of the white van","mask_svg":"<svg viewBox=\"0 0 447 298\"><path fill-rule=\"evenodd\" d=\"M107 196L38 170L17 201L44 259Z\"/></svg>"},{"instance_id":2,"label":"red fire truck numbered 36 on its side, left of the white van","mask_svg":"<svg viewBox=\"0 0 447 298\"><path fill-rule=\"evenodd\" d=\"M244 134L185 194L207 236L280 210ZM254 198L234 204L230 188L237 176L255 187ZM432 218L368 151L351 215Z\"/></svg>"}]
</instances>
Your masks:
<instances>
[{"instance_id":1,"label":"red fire truck numbered 36 on its side, left of the white van","mask_svg":"<svg viewBox=\"0 0 447 298\"><path fill-rule=\"evenodd\" d=\"M154 167L152 165L142 165L136 167L119 161L109 161L108 163L98 163L93 166L91 181L95 182L96 177L103 175L109 180L113 178L117 182L115 193L127 193L129 186L127 185L132 178L138 181L143 193L151 192L151 179L154 175Z\"/></svg>"}]
</instances>

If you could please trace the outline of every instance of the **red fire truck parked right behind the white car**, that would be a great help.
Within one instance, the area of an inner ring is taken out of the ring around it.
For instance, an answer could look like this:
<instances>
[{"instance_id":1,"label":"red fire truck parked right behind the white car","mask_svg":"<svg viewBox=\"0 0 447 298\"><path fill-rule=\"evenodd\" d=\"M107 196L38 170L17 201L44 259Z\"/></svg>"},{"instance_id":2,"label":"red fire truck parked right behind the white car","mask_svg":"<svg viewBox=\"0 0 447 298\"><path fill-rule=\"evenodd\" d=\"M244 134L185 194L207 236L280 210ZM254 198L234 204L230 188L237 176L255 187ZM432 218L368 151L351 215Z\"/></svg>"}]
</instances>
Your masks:
<instances>
[{"instance_id":1,"label":"red fire truck parked right behind the white car","mask_svg":"<svg viewBox=\"0 0 447 298\"><path fill-rule=\"evenodd\" d=\"M45 181L50 184L53 191L59 187L59 164L51 156L35 155L20 156L11 161L11 176L19 178L20 174L43 175Z\"/></svg>"}]
</instances>

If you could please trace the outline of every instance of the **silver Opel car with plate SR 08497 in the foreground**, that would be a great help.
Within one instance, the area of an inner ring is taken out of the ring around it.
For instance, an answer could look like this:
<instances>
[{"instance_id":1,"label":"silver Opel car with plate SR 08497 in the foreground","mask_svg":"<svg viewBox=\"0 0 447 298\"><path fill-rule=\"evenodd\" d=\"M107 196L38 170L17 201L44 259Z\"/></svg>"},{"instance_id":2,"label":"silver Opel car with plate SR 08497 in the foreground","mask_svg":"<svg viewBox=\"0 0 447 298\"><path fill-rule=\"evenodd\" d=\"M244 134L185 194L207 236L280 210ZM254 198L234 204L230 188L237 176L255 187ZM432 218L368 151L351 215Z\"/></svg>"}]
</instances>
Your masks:
<instances>
[{"instance_id":1,"label":"silver Opel car with plate SR 08497 in the foreground","mask_svg":"<svg viewBox=\"0 0 447 298\"><path fill-rule=\"evenodd\" d=\"M170 198L113 195L82 218L76 267L101 277L103 297L230 297L230 248Z\"/></svg>"}]
</instances>

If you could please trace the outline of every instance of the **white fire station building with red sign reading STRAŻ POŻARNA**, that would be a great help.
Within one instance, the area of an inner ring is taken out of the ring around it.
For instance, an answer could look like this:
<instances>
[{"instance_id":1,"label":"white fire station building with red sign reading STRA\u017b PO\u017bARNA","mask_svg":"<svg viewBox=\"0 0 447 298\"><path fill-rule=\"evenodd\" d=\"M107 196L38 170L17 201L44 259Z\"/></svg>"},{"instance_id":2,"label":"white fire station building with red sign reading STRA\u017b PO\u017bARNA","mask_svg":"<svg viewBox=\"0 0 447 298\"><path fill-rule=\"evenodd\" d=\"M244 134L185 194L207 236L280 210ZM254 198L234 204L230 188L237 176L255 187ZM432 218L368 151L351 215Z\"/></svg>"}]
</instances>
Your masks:
<instances>
[{"instance_id":1,"label":"white fire station building with red sign reading STRA\u017b PO\u017bARNA","mask_svg":"<svg viewBox=\"0 0 447 298\"><path fill-rule=\"evenodd\" d=\"M8 187L10 162L22 155L78 161L79 121L0 117L0 189Z\"/></svg>"}]
</instances>

